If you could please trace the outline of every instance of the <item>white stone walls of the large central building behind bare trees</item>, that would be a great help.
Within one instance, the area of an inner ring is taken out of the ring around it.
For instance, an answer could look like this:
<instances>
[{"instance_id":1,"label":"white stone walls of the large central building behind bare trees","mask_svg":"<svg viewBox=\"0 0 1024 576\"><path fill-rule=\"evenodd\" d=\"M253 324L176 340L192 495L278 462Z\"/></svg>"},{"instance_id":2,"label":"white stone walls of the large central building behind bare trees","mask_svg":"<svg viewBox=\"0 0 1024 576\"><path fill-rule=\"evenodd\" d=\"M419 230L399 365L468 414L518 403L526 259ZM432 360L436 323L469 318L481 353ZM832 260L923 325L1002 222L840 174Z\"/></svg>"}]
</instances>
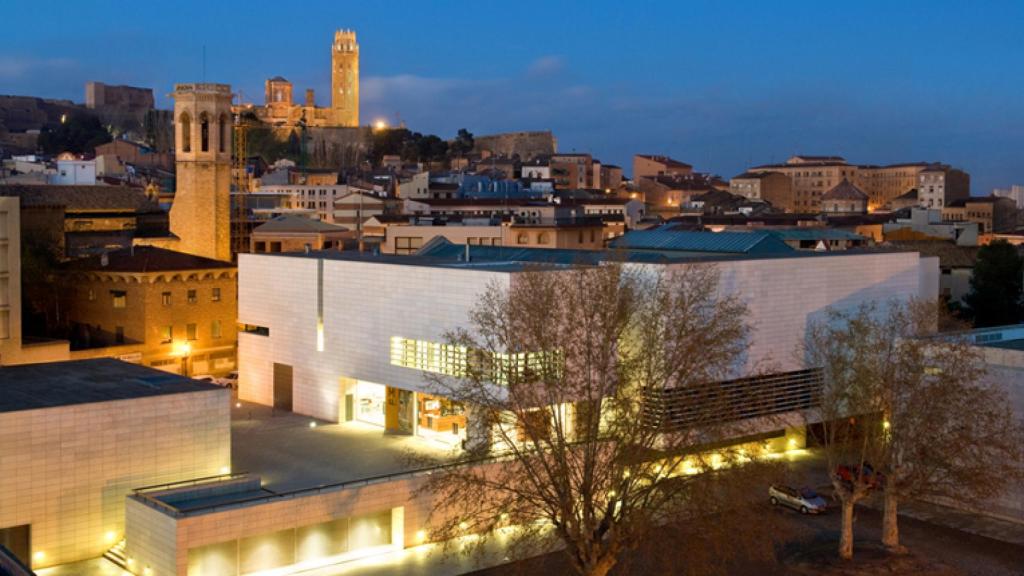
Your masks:
<instances>
[{"instance_id":1,"label":"white stone walls of the large central building behind bare trees","mask_svg":"<svg viewBox=\"0 0 1024 576\"><path fill-rule=\"evenodd\" d=\"M724 260L718 266L723 288L737 291L750 306L748 367L770 363L779 371L802 368L798 344L808 323L828 306L932 298L938 288L937 260L914 252ZM268 335L239 334L240 397L271 405L274 363L293 368L293 410L330 421L342 419L342 378L427 392L422 372L391 365L390 338L445 341L445 332L466 326L488 283L507 286L512 276L393 260L242 254L239 321L268 329Z\"/></svg>"}]
</instances>

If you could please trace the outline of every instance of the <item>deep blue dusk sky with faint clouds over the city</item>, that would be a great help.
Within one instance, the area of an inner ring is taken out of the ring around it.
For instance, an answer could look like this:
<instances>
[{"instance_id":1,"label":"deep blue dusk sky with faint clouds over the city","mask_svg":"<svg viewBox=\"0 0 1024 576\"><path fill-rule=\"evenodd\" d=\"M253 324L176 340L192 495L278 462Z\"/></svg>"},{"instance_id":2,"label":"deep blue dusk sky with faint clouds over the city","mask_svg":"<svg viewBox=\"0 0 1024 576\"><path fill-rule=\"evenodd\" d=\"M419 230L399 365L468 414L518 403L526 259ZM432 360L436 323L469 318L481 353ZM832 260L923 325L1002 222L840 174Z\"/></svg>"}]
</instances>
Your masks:
<instances>
[{"instance_id":1,"label":"deep blue dusk sky with faint clouds over the city","mask_svg":"<svg viewBox=\"0 0 1024 576\"><path fill-rule=\"evenodd\" d=\"M793 154L941 161L975 195L1024 184L1024 2L0 0L0 94L263 82L327 106L356 31L361 121L452 137L553 130L632 171L667 154L730 177ZM205 53L205 57L204 57ZM205 64L204 64L205 63Z\"/></svg>"}]
</instances>

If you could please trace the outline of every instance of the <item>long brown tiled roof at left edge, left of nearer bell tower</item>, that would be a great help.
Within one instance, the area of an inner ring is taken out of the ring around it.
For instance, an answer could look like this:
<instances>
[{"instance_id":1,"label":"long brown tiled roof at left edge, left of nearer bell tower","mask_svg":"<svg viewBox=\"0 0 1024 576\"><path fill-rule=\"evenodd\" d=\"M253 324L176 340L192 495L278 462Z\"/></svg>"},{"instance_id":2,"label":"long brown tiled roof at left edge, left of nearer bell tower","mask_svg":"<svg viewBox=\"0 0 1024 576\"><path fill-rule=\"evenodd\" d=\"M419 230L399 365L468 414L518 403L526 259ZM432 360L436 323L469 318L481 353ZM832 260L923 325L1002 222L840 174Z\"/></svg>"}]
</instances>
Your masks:
<instances>
[{"instance_id":1,"label":"long brown tiled roof at left edge, left of nearer bell tower","mask_svg":"<svg viewBox=\"0 0 1024 576\"><path fill-rule=\"evenodd\" d=\"M142 189L131 187L0 184L0 196L17 196L22 206L63 206L68 211L160 211Z\"/></svg>"}]
</instances>

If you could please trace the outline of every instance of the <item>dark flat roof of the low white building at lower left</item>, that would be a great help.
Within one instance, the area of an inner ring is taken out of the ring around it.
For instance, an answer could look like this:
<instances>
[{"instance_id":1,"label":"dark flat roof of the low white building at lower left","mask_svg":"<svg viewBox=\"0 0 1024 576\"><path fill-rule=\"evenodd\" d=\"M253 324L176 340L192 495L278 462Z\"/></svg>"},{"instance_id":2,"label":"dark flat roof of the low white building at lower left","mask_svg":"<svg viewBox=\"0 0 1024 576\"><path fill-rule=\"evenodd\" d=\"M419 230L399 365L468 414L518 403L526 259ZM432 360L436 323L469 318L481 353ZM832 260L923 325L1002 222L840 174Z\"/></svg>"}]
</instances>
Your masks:
<instances>
[{"instance_id":1,"label":"dark flat roof of the low white building at lower left","mask_svg":"<svg viewBox=\"0 0 1024 576\"><path fill-rule=\"evenodd\" d=\"M113 358L0 368L0 412L223 389Z\"/></svg>"}]
</instances>

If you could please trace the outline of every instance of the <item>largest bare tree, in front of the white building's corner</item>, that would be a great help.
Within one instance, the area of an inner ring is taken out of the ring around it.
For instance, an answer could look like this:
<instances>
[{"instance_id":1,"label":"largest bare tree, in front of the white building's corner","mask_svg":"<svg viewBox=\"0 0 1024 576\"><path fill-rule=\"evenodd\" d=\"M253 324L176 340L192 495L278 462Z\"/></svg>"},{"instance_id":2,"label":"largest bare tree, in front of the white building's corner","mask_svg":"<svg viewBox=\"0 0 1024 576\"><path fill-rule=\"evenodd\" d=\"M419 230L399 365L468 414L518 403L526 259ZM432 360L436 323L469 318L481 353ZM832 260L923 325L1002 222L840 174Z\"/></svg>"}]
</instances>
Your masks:
<instances>
[{"instance_id":1,"label":"largest bare tree, in front of the white building's corner","mask_svg":"<svg viewBox=\"0 0 1024 576\"><path fill-rule=\"evenodd\" d=\"M673 573L722 570L707 552L729 544L773 553L748 505L763 499L770 464L757 446L721 447L751 430L741 399L718 384L749 336L745 305L720 288L712 265L618 263L492 286L471 328L450 336L464 367L436 379L467 407L468 458L489 463L430 478L432 538L501 536L516 558L563 549L585 575L690 521L714 529L671 544ZM682 541L707 562L697 568Z\"/></svg>"}]
</instances>

